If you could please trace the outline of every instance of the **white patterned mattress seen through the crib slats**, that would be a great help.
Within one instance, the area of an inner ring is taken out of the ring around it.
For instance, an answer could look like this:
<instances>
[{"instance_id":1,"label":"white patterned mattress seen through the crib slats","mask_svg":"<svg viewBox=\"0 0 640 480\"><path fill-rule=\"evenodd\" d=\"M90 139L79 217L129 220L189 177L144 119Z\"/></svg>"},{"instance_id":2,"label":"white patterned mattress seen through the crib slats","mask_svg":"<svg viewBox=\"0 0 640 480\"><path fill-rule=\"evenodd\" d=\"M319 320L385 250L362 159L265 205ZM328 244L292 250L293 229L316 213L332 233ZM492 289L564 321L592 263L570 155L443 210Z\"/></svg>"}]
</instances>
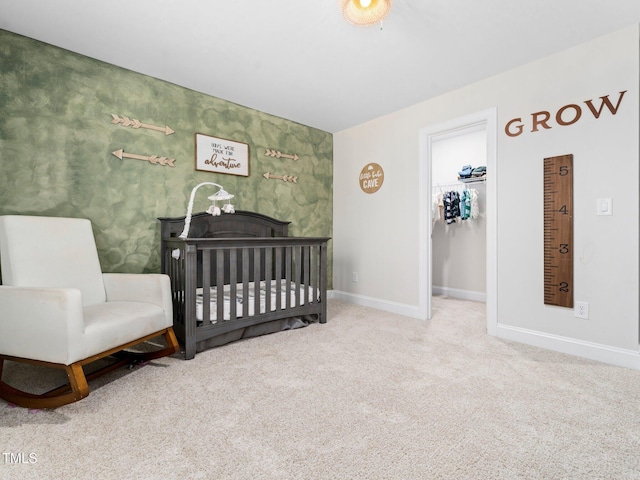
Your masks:
<instances>
[{"instance_id":1,"label":"white patterned mattress seen through the crib slats","mask_svg":"<svg viewBox=\"0 0 640 480\"><path fill-rule=\"evenodd\" d=\"M276 310L276 299L277 299L277 291L276 291L276 282L275 280L271 281L271 304L270 304L270 311L275 311ZM287 285L286 285L286 280L282 280L281 284L280 284L280 303L281 303L281 308L283 310L287 309L289 307L289 305L287 305ZM295 284L290 283L290 295L291 295L291 305L297 305L297 299L300 298L300 304L304 305L305 304L305 294L304 294L304 285L298 285L296 287ZM239 283L236 287L236 316L237 318L240 318L243 315L244 312L244 304L248 302L249 305L249 316L253 316L259 313L266 313L267 311L267 289L266 289L266 282L262 281L260 282L260 297L257 299L258 301L256 302L256 297L255 297L255 285L253 282L249 283L249 295L247 298L244 298L243 296L243 292L242 292L242 284ZM308 290L308 296L306 298L306 301L308 302L313 302L313 301L317 301L318 300L318 294L319 292L315 292L314 294L314 289L309 287ZM223 302L224 302L224 309L223 309L223 315L224 315L224 320L229 320L230 315L231 315L231 286L230 285L225 285L224 286L224 293L223 293ZM314 300L315 297L315 300ZM216 323L218 318L218 289L217 287L211 287L210 289L210 301L209 301L209 318L211 323ZM203 298L203 290L202 288L199 288L196 291L196 319L201 322L203 320L203 316L204 316L204 298Z\"/></svg>"}]
</instances>

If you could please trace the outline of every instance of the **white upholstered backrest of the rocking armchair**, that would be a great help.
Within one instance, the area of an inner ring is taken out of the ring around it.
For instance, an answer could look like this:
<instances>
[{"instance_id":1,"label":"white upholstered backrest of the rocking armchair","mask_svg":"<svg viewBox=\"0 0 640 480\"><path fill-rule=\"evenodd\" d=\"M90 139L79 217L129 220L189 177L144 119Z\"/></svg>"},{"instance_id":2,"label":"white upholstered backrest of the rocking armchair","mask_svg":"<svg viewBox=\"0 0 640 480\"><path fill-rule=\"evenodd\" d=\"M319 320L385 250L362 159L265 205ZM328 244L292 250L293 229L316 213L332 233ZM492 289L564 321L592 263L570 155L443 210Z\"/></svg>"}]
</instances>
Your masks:
<instances>
[{"instance_id":1,"label":"white upholstered backrest of the rocking armchair","mask_svg":"<svg viewBox=\"0 0 640 480\"><path fill-rule=\"evenodd\" d=\"M83 305L106 300L89 220L0 216L0 246L4 285L77 288Z\"/></svg>"}]
</instances>

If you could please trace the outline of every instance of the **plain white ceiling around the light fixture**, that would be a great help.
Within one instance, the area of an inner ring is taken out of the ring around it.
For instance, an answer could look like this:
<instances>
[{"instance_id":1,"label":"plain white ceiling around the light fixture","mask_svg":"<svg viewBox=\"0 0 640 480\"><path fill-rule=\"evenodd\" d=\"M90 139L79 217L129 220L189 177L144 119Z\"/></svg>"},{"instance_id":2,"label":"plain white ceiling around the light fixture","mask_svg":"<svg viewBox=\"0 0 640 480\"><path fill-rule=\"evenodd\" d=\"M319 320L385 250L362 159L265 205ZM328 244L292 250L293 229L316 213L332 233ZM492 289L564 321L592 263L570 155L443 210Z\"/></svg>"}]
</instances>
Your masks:
<instances>
[{"instance_id":1,"label":"plain white ceiling around the light fixture","mask_svg":"<svg viewBox=\"0 0 640 480\"><path fill-rule=\"evenodd\" d=\"M334 133L640 23L640 0L395 0L380 29L338 3L0 0L0 28Z\"/></svg>"}]
</instances>

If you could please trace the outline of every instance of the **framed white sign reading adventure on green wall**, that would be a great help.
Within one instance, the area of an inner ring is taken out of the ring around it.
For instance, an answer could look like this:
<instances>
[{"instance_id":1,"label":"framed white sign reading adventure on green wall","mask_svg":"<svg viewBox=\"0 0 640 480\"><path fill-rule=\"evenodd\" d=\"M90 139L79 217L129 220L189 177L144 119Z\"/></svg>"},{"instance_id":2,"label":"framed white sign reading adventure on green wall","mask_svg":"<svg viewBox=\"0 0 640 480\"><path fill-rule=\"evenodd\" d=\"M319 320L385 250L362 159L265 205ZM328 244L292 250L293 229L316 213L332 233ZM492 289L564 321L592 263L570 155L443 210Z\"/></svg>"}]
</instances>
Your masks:
<instances>
[{"instance_id":1,"label":"framed white sign reading adventure on green wall","mask_svg":"<svg viewBox=\"0 0 640 480\"><path fill-rule=\"evenodd\" d=\"M249 145L196 133L196 170L249 176Z\"/></svg>"}]
</instances>

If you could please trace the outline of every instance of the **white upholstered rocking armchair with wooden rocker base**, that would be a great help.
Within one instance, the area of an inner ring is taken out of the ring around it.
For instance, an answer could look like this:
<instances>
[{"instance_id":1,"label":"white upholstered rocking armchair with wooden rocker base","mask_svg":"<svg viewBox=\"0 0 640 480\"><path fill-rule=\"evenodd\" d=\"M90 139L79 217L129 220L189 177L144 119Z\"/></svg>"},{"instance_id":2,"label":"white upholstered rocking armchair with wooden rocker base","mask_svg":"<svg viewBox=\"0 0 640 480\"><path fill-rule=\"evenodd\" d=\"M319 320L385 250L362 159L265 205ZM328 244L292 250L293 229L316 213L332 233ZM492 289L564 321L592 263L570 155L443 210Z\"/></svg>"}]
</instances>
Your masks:
<instances>
[{"instance_id":1,"label":"white upholstered rocking armchair with wooden rocker base","mask_svg":"<svg viewBox=\"0 0 640 480\"><path fill-rule=\"evenodd\" d=\"M86 219L0 216L0 398L55 408L89 395L87 381L135 360L175 353L169 277L103 274ZM163 336L166 347L125 351ZM91 376L83 366L118 361ZM64 369L69 384L31 394L2 380L5 360Z\"/></svg>"}]
</instances>

